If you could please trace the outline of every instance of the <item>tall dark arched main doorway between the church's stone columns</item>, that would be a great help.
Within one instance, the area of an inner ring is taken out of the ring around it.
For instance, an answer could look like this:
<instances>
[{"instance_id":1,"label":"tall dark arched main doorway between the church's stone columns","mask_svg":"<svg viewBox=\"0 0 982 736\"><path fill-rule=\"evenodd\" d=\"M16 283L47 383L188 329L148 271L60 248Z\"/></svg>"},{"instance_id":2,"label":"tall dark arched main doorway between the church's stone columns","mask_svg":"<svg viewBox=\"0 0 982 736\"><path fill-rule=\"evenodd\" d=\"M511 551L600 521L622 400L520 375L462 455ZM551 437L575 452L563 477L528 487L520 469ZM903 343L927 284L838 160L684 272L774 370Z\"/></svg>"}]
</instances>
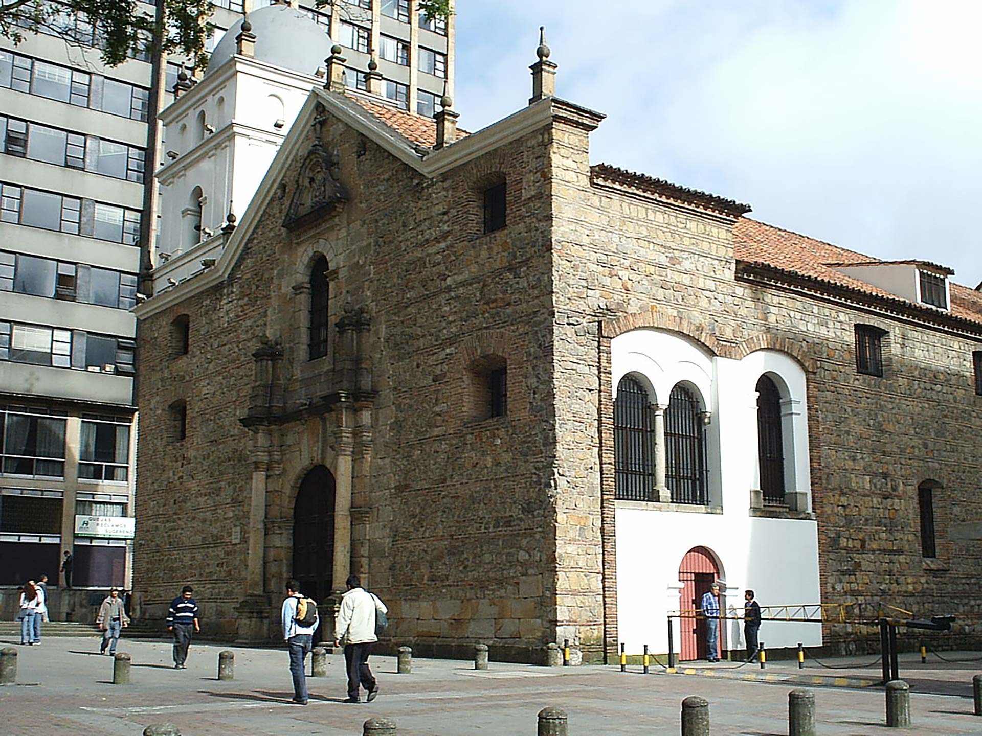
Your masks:
<instances>
[{"instance_id":1,"label":"tall dark arched main doorway between the church's stone columns","mask_svg":"<svg viewBox=\"0 0 982 736\"><path fill-rule=\"evenodd\" d=\"M294 574L318 604L331 594L334 567L334 476L317 465L303 477L294 504Z\"/></svg>"}]
</instances>

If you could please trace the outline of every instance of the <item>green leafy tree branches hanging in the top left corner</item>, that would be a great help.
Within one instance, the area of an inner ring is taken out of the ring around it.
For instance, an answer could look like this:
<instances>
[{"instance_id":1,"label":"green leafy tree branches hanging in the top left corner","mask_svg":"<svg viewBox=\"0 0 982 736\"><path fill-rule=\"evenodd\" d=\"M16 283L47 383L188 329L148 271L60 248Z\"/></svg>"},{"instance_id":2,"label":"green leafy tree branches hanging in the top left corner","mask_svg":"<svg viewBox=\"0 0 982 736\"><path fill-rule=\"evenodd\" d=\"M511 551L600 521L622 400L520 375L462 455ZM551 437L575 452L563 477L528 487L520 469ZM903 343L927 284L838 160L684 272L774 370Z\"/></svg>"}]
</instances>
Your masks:
<instances>
[{"instance_id":1,"label":"green leafy tree branches hanging in the top left corner","mask_svg":"<svg viewBox=\"0 0 982 736\"><path fill-rule=\"evenodd\" d=\"M115 67L159 44L164 53L202 58L211 33L209 0L156 0L156 16L136 0L0 0L0 35L20 43L25 33L44 32L69 43L97 46Z\"/></svg>"}]
</instances>

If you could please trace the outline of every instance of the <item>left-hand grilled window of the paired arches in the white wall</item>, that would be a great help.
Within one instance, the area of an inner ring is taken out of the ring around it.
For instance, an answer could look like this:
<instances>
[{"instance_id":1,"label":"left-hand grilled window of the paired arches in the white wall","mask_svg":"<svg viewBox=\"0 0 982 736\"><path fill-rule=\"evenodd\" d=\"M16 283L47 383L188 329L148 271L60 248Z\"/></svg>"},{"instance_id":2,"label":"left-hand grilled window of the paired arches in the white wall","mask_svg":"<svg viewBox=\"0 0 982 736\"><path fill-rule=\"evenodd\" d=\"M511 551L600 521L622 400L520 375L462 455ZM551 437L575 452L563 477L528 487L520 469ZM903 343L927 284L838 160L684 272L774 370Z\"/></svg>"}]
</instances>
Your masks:
<instances>
[{"instance_id":1,"label":"left-hand grilled window of the paired arches in the white wall","mask_svg":"<svg viewBox=\"0 0 982 736\"><path fill-rule=\"evenodd\" d=\"M614 480L618 499L658 500L654 409L630 376L621 379L614 399Z\"/></svg>"}]
</instances>

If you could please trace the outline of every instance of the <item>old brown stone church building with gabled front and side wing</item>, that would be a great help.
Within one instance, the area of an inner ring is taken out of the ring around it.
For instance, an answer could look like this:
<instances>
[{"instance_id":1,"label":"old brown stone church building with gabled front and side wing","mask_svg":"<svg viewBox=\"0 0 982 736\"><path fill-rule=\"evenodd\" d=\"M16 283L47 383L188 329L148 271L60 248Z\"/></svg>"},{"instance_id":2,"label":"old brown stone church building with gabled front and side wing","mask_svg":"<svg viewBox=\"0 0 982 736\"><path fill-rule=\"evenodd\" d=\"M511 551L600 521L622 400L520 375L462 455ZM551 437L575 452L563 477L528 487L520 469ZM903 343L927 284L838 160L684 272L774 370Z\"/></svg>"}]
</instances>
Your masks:
<instances>
[{"instance_id":1,"label":"old brown stone church building with gabled front and side wing","mask_svg":"<svg viewBox=\"0 0 982 736\"><path fill-rule=\"evenodd\" d=\"M144 617L191 582L206 633L275 639L287 578L328 600L354 571L391 644L535 661L664 652L706 576L762 604L979 613L978 291L591 166L603 116L552 95L547 54L528 107L471 134L339 68L217 257L136 309ZM875 634L780 626L776 646Z\"/></svg>"}]
</instances>

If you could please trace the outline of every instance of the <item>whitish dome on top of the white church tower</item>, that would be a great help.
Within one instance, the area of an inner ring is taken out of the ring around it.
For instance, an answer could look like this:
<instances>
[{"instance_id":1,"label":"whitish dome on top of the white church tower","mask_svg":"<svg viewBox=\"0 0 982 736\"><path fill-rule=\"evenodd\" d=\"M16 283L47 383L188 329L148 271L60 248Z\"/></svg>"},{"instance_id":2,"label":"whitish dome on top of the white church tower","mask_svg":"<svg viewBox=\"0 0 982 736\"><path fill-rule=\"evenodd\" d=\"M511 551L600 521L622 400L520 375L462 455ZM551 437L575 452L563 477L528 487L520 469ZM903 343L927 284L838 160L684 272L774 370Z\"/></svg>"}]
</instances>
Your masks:
<instances>
[{"instance_id":1,"label":"whitish dome on top of the white church tower","mask_svg":"<svg viewBox=\"0 0 982 736\"><path fill-rule=\"evenodd\" d=\"M208 61L205 76L223 66L236 54L236 36L246 19L234 24L222 36ZM331 55L331 37L324 26L289 5L270 5L248 14L255 33L254 58L293 72L313 75Z\"/></svg>"}]
</instances>

